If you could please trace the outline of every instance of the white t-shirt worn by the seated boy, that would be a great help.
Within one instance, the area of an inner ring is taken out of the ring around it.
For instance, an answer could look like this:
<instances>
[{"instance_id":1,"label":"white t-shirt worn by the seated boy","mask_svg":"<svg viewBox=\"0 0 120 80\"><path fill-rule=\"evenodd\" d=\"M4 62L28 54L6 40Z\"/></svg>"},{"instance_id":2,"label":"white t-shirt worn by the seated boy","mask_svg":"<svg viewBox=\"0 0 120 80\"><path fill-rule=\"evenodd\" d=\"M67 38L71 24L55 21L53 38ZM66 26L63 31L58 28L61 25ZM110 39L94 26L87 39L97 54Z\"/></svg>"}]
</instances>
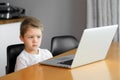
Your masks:
<instances>
[{"instance_id":1,"label":"white t-shirt worn by the seated boy","mask_svg":"<svg viewBox=\"0 0 120 80\"><path fill-rule=\"evenodd\" d=\"M30 54L30 53L27 53L25 50L23 50L20 53L20 55L17 57L15 71L18 71L20 69L26 68L28 66L37 64L41 61L44 61L53 57L51 52L47 49L39 48L38 50L39 50L38 54Z\"/></svg>"}]
</instances>

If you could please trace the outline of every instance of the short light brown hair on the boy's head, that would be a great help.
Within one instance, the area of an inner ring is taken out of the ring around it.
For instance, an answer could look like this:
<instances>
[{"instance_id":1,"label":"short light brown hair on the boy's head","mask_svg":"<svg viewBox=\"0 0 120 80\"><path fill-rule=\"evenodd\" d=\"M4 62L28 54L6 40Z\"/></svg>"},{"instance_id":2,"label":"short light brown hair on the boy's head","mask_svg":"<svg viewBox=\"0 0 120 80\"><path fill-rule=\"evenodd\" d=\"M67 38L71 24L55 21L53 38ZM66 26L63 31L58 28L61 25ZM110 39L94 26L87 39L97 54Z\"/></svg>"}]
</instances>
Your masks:
<instances>
[{"instance_id":1,"label":"short light brown hair on the boy's head","mask_svg":"<svg viewBox=\"0 0 120 80\"><path fill-rule=\"evenodd\" d=\"M26 17L20 25L20 35L24 36L28 28L38 28L43 31L43 25L35 17Z\"/></svg>"}]
</instances>

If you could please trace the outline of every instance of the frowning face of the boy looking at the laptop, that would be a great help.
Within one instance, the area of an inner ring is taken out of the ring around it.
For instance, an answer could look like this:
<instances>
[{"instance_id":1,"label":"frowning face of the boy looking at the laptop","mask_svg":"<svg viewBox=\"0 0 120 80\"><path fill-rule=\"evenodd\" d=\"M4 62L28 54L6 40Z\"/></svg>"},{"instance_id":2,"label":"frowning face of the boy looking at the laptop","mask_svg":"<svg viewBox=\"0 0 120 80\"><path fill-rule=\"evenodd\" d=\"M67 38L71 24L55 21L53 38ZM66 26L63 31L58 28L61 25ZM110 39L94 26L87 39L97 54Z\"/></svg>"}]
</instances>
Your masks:
<instances>
[{"instance_id":1,"label":"frowning face of the boy looking at the laptop","mask_svg":"<svg viewBox=\"0 0 120 80\"><path fill-rule=\"evenodd\" d=\"M37 28L28 28L24 37L20 36L20 39L24 42L26 51L34 52L41 45L42 31Z\"/></svg>"}]
</instances>

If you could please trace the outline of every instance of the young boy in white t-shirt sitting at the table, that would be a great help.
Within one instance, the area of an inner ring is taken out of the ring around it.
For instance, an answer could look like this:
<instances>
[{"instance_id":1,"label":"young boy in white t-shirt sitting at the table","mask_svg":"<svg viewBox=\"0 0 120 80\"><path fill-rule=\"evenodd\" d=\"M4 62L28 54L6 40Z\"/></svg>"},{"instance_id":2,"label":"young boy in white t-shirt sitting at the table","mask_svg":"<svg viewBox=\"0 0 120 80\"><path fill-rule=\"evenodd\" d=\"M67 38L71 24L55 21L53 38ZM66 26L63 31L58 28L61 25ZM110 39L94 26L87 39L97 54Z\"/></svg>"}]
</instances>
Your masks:
<instances>
[{"instance_id":1,"label":"young boy in white t-shirt sitting at the table","mask_svg":"<svg viewBox=\"0 0 120 80\"><path fill-rule=\"evenodd\" d=\"M17 57L15 71L53 57L47 49L39 48L42 31L42 24L34 17L28 17L21 23L20 40L24 42L25 49Z\"/></svg>"}]
</instances>

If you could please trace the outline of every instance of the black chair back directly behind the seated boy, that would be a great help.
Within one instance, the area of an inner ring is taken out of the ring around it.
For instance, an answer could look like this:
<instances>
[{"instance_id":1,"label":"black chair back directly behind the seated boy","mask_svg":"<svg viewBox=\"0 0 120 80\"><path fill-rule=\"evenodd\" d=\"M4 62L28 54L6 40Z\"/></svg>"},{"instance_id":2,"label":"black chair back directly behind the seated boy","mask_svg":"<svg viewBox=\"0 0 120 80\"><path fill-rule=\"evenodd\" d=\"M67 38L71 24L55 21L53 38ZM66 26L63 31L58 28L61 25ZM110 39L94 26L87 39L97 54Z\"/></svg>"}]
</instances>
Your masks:
<instances>
[{"instance_id":1,"label":"black chair back directly behind the seated boy","mask_svg":"<svg viewBox=\"0 0 120 80\"><path fill-rule=\"evenodd\" d=\"M17 56L24 49L24 44L14 44L7 47L6 74L14 72Z\"/></svg>"}]
</instances>

